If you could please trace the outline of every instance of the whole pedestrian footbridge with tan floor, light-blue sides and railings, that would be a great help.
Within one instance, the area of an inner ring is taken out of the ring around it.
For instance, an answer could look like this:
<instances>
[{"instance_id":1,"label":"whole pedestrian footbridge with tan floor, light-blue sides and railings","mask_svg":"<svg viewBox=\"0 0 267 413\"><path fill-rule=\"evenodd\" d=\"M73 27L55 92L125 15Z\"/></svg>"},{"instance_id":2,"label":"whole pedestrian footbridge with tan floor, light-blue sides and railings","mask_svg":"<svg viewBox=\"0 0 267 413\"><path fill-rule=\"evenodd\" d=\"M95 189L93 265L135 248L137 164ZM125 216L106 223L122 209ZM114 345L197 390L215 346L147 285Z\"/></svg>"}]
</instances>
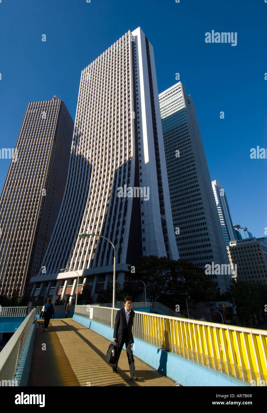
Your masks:
<instances>
[{"instance_id":1,"label":"whole pedestrian footbridge with tan floor, light-blue sides and railings","mask_svg":"<svg viewBox=\"0 0 267 413\"><path fill-rule=\"evenodd\" d=\"M118 374L105 361L118 311L106 304L73 306L73 317L52 318L47 332L33 309L0 352L0 380L15 379L21 386L266 383L267 331L150 313L145 306L132 306L137 382L130 380L126 353Z\"/></svg>"}]
</instances>

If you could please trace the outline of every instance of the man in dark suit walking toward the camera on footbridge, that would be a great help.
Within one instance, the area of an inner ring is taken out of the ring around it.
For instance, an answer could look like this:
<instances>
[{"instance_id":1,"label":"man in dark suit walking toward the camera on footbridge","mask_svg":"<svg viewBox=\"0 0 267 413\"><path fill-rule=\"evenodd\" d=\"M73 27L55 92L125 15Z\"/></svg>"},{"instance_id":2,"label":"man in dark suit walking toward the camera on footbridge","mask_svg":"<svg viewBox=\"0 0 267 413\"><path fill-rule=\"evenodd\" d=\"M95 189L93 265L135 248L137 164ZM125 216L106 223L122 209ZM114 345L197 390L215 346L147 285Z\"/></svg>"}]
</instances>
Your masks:
<instances>
[{"instance_id":1,"label":"man in dark suit walking toward the camera on footbridge","mask_svg":"<svg viewBox=\"0 0 267 413\"><path fill-rule=\"evenodd\" d=\"M113 341L118 342L118 356L117 361L113 364L113 373L118 373L118 360L121 355L121 350L123 349L123 344L125 343L126 352L128 356L128 363L130 366L131 380L137 380L135 375L135 360L132 354L132 344L134 342L132 336L132 324L135 317L135 312L131 310L132 300L130 297L125 297L124 307L119 310L116 315L115 325L114 325L114 335Z\"/></svg>"}]
</instances>

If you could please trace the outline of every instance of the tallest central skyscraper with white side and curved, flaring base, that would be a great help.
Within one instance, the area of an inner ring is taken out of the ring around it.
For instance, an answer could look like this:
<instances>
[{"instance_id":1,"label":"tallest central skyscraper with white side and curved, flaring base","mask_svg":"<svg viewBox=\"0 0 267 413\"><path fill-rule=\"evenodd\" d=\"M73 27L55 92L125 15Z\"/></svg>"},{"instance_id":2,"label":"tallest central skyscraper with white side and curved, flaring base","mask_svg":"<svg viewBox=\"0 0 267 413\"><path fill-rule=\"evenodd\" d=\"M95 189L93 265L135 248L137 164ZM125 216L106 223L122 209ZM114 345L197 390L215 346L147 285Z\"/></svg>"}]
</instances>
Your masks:
<instances>
[{"instance_id":1,"label":"tallest central skyscraper with white side and curved, flaring base","mask_svg":"<svg viewBox=\"0 0 267 413\"><path fill-rule=\"evenodd\" d=\"M170 208L154 52L140 28L128 31L81 74L66 191L43 261L41 289L74 295L76 279L93 297L116 269L123 282L128 265L142 255L178 251ZM61 268L69 271L60 274ZM36 285L35 285L36 287ZM35 292L33 291L35 294Z\"/></svg>"}]
</instances>

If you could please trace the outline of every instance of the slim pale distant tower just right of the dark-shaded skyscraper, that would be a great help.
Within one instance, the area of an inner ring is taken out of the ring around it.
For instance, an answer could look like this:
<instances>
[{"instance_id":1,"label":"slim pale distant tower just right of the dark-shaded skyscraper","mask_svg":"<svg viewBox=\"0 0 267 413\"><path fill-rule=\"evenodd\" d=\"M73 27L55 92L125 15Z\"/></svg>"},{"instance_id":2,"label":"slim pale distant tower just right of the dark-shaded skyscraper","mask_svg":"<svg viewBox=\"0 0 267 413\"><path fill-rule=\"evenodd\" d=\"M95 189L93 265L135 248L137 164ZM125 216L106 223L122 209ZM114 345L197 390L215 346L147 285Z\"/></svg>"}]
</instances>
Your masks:
<instances>
[{"instance_id":1,"label":"slim pale distant tower just right of the dark-shaded skyscraper","mask_svg":"<svg viewBox=\"0 0 267 413\"><path fill-rule=\"evenodd\" d=\"M218 180L212 181L213 195L216 202L217 211L220 218L222 234L225 242L225 246L228 247L230 241L236 239L234 234L234 228L232 223L232 218L230 215L229 204L227 201L227 196L222 188L222 184Z\"/></svg>"}]
</instances>

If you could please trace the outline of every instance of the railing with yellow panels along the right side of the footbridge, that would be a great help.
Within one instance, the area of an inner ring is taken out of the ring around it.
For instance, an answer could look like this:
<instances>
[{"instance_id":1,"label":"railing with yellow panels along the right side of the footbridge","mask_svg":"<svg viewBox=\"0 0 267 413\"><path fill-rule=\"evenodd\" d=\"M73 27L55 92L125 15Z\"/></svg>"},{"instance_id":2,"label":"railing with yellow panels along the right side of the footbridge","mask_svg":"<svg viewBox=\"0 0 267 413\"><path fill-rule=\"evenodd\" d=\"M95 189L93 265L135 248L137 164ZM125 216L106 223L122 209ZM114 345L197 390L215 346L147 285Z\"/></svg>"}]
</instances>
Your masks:
<instances>
[{"instance_id":1,"label":"railing with yellow panels along the right side of the footbridge","mask_svg":"<svg viewBox=\"0 0 267 413\"><path fill-rule=\"evenodd\" d=\"M111 326L111 310L108 307L94 307L92 319ZM86 306L77 306L75 312L89 317L89 311ZM267 382L265 330L135 311L133 334L243 382L249 383L257 378Z\"/></svg>"}]
</instances>

